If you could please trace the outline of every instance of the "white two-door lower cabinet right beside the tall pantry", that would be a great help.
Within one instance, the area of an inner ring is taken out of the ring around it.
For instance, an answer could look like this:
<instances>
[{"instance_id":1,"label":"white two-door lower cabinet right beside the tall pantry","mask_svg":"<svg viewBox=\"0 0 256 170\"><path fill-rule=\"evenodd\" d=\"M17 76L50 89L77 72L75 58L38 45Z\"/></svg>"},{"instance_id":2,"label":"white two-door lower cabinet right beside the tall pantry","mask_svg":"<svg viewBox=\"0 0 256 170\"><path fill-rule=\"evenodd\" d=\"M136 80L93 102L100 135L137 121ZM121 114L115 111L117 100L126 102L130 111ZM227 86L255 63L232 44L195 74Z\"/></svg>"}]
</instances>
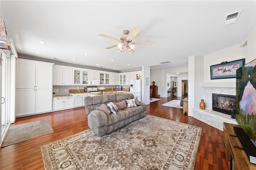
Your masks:
<instances>
[{"instance_id":1,"label":"white two-door lower cabinet right beside the tall pantry","mask_svg":"<svg viewBox=\"0 0 256 170\"><path fill-rule=\"evenodd\" d=\"M69 109L72 108L72 96L67 97L54 97L52 109L53 110L62 110L62 109Z\"/></svg>"}]
</instances>

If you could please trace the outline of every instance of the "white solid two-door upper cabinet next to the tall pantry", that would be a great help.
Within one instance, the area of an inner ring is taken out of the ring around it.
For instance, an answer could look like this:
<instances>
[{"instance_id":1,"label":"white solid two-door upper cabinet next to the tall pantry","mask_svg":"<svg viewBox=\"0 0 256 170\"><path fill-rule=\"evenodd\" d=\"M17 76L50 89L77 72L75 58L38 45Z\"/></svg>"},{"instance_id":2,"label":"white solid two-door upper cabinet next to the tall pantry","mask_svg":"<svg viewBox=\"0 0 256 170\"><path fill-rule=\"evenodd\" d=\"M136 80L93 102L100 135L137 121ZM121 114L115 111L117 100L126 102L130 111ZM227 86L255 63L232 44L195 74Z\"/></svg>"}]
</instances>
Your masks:
<instances>
[{"instance_id":1,"label":"white solid two-door upper cabinet next to the tall pantry","mask_svg":"<svg viewBox=\"0 0 256 170\"><path fill-rule=\"evenodd\" d=\"M63 65L53 66L53 85L72 85L73 69Z\"/></svg>"}]
</instances>

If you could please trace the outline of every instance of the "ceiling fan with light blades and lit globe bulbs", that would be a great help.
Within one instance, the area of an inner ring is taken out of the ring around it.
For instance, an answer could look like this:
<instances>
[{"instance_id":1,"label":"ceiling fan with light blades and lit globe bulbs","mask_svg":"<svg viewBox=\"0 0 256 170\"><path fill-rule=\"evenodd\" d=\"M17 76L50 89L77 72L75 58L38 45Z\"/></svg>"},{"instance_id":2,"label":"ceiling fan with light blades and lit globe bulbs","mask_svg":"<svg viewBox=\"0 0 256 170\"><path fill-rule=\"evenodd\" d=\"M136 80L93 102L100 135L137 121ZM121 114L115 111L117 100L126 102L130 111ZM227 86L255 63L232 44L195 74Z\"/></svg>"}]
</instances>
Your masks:
<instances>
[{"instance_id":1,"label":"ceiling fan with light blades and lit globe bulbs","mask_svg":"<svg viewBox=\"0 0 256 170\"><path fill-rule=\"evenodd\" d=\"M119 41L120 43L116 44L116 45L112 45L110 47L106 47L106 49L110 49L113 47L118 47L118 51L121 53L124 51L124 47L126 47L128 53L132 53L134 52L133 49L135 47L135 45L152 45L152 42L132 42L132 39L140 32L140 28L136 28L134 27L132 29L132 31L129 34L129 30L124 30L123 31L123 35L120 36L120 39L111 37L111 36L107 36L105 34L100 34L99 36L102 37L106 37L106 38L110 38L112 40L116 40Z\"/></svg>"}]
</instances>

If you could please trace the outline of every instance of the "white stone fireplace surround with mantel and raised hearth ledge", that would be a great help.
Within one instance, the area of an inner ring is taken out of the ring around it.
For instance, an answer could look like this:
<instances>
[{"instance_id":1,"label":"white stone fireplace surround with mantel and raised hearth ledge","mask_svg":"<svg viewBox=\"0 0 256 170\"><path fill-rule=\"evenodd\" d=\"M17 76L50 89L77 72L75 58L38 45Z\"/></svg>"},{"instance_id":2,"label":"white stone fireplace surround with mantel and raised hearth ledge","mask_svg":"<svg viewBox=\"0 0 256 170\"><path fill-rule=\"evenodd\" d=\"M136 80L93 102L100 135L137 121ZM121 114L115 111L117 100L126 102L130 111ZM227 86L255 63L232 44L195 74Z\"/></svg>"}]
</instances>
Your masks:
<instances>
[{"instance_id":1,"label":"white stone fireplace surround with mantel and raised hearth ledge","mask_svg":"<svg viewBox=\"0 0 256 170\"><path fill-rule=\"evenodd\" d=\"M231 87L225 87L226 84L231 85ZM237 125L236 120L232 119L230 115L212 110L212 93L236 95L235 83L201 83L201 88L203 91L202 99L204 99L206 107L204 110L200 109L200 101L198 101L198 108L193 108L193 117L222 131L224 122Z\"/></svg>"}]
</instances>

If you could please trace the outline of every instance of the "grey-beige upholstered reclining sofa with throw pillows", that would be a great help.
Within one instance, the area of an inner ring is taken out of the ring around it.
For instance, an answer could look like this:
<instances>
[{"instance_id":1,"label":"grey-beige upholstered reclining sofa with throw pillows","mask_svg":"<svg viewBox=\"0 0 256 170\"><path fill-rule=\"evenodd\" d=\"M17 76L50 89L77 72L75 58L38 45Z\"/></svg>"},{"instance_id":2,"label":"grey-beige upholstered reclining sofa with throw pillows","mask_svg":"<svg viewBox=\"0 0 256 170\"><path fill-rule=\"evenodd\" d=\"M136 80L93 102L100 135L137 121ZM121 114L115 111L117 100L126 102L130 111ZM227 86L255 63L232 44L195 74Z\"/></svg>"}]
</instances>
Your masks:
<instances>
[{"instance_id":1,"label":"grey-beige upholstered reclining sofa with throw pillows","mask_svg":"<svg viewBox=\"0 0 256 170\"><path fill-rule=\"evenodd\" d=\"M132 121L145 117L145 103L136 100L137 105L131 107L131 101L134 101L134 95L132 93L97 95L84 98L84 105L88 116L88 126L97 136L103 136ZM127 102L128 107L126 105ZM111 109L112 113L109 113L108 109L111 105L109 103L116 103L115 106L119 107L116 114L114 114L113 112L115 111ZM106 108L106 105L108 105L108 108ZM124 105L126 105L125 108Z\"/></svg>"}]
</instances>

